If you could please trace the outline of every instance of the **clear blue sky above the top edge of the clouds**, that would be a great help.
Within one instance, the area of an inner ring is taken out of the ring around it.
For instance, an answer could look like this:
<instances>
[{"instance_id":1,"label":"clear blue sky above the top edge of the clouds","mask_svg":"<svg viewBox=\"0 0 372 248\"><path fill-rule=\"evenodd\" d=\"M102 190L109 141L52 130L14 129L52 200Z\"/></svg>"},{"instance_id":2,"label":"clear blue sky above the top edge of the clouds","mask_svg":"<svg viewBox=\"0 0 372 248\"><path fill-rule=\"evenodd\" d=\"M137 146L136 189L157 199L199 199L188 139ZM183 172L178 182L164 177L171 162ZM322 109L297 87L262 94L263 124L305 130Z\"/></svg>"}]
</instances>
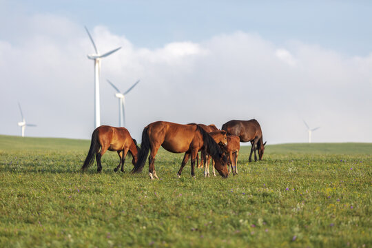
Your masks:
<instances>
[{"instance_id":1,"label":"clear blue sky above the top edge of the clouds","mask_svg":"<svg viewBox=\"0 0 372 248\"><path fill-rule=\"evenodd\" d=\"M10 13L51 13L88 27L105 25L149 48L172 41L200 42L240 30L279 44L300 40L349 55L372 50L371 1L2 2ZM6 13L5 17L17 19Z\"/></svg>"}]
</instances>

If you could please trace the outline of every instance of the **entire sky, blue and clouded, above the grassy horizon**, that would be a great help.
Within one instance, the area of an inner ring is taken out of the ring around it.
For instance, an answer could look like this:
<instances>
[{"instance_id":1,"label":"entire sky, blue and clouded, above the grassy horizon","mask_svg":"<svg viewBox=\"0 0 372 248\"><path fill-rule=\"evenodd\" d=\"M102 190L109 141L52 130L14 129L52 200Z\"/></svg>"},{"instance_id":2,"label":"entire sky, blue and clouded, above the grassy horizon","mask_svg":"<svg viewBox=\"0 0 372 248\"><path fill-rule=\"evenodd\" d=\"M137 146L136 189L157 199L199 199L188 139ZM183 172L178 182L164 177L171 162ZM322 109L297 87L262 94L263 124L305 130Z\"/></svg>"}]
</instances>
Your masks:
<instances>
[{"instance_id":1,"label":"entire sky, blue and clouded, above the grassy horizon","mask_svg":"<svg viewBox=\"0 0 372 248\"><path fill-rule=\"evenodd\" d=\"M0 134L89 139L94 53L101 124L141 141L154 121L256 118L268 144L372 142L370 1L0 0Z\"/></svg>"}]
</instances>

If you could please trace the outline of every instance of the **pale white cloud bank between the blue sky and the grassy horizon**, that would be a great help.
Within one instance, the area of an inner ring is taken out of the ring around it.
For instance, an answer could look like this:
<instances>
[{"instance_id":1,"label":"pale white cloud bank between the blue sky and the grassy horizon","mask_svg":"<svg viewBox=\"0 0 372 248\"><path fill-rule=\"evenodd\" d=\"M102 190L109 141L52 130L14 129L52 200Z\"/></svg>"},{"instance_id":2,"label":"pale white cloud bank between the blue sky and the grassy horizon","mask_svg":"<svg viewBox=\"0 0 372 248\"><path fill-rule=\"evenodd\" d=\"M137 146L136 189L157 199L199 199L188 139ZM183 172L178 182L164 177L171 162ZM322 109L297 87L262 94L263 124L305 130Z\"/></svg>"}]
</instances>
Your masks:
<instances>
[{"instance_id":1,"label":"pale white cloud bank between the blue sky and the grassy horizon","mask_svg":"<svg viewBox=\"0 0 372 248\"><path fill-rule=\"evenodd\" d=\"M126 123L140 140L153 121L215 123L256 118L268 143L372 142L372 54L344 56L319 45L277 45L258 34L220 34L200 43L136 47L104 26L88 27L100 52L122 49L101 66L101 123L118 125L109 79L127 95ZM90 138L94 52L83 26L63 17L24 17L19 35L0 39L1 134Z\"/></svg>"}]
</instances>

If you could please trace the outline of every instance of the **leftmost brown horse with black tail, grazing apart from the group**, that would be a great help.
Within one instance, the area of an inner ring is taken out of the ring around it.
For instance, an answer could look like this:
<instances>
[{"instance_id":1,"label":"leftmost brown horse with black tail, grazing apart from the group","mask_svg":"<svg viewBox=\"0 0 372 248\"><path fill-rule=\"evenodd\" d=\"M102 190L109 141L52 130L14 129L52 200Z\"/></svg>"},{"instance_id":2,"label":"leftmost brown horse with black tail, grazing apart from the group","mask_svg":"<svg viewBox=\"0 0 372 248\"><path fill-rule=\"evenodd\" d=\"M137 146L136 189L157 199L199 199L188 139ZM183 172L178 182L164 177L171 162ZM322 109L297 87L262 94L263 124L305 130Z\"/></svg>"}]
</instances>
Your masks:
<instances>
[{"instance_id":1,"label":"leftmost brown horse with black tail, grazing apart from the group","mask_svg":"<svg viewBox=\"0 0 372 248\"><path fill-rule=\"evenodd\" d=\"M120 162L114 169L114 172L117 172L120 166L121 171L124 172L124 162L128 152L133 156L132 164L136 165L137 155L140 148L138 147L136 140L130 136L128 130L125 127L101 125L100 127L97 127L92 134L90 149L81 169L84 171L89 168L90 165L94 163L94 157L96 157L97 172L102 172L101 157L105 154L107 149L109 151L118 152L120 158Z\"/></svg>"}]
</instances>

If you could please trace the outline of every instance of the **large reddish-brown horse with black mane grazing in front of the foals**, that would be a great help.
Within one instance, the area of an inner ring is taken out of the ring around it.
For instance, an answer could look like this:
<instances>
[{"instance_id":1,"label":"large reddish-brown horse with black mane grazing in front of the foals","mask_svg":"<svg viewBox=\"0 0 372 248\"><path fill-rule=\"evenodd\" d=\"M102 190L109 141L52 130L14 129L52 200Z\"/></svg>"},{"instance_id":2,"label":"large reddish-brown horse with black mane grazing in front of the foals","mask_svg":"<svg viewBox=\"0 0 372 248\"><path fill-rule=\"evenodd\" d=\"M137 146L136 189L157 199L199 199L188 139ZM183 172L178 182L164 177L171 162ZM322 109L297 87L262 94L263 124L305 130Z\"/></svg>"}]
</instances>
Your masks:
<instances>
[{"instance_id":1,"label":"large reddish-brown horse with black mane grazing in front of the foals","mask_svg":"<svg viewBox=\"0 0 372 248\"><path fill-rule=\"evenodd\" d=\"M138 163L136 163L134 169L132 169L132 173L142 172L149 150L151 150L149 155L149 177L151 179L158 178L155 172L154 163L156 153L161 146L168 152L185 152L181 167L177 173L178 177L180 177L183 167L185 167L190 156L192 159L191 174L192 176L195 176L194 167L196 154L198 154L198 151L203 149L206 149L216 161L216 169L220 175L224 178L229 176L226 166L226 156L223 156L223 152L218 144L203 130L202 127L196 124L181 125L166 121L150 123L143 129L141 150L138 154Z\"/></svg>"}]
</instances>

